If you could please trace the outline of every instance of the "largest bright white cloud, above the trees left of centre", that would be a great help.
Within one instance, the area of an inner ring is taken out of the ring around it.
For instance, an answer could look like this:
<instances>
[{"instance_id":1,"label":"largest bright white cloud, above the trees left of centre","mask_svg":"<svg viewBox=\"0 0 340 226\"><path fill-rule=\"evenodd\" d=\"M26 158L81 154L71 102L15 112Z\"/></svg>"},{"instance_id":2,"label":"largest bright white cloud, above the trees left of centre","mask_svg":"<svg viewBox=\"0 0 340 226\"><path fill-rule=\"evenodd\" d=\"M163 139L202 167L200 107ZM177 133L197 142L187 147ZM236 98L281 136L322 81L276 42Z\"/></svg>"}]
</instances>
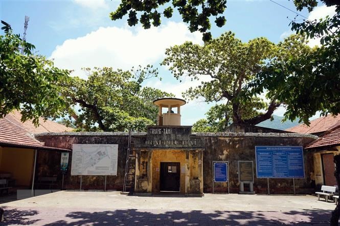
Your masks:
<instances>
[{"instance_id":1,"label":"largest bright white cloud, above the trees left of centre","mask_svg":"<svg viewBox=\"0 0 340 226\"><path fill-rule=\"evenodd\" d=\"M55 59L56 66L76 72L82 67L130 69L159 63L166 48L185 41L201 43L201 34L190 33L182 22L168 22L148 30L140 26L99 28L85 36L67 39L56 46L50 58Z\"/></svg>"}]
</instances>

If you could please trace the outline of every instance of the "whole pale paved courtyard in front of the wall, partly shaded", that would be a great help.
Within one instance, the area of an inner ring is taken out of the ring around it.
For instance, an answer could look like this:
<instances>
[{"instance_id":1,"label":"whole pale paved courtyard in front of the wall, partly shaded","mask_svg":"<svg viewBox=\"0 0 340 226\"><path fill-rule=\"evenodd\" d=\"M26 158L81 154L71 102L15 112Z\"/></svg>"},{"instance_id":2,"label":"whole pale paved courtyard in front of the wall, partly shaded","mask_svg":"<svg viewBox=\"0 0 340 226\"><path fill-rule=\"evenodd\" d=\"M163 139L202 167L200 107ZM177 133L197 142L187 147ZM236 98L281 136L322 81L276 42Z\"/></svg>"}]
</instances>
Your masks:
<instances>
[{"instance_id":1,"label":"whole pale paved courtyard in front of the wall, partly shaded","mask_svg":"<svg viewBox=\"0 0 340 226\"><path fill-rule=\"evenodd\" d=\"M1 198L1 197L0 197ZM310 195L125 196L72 192L3 203L0 225L329 225L334 203Z\"/></svg>"}]
</instances>

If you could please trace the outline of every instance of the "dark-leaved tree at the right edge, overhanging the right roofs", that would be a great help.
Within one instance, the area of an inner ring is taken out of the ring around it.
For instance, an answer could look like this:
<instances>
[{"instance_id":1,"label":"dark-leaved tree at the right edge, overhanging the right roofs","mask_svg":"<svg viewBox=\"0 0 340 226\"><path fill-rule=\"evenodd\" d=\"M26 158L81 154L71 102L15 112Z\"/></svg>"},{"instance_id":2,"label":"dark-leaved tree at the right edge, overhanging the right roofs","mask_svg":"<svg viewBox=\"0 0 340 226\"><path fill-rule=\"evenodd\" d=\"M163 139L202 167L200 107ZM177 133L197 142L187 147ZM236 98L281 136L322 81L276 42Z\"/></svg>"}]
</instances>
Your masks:
<instances>
[{"instance_id":1,"label":"dark-leaved tree at the right edge, overhanging the right roofs","mask_svg":"<svg viewBox=\"0 0 340 226\"><path fill-rule=\"evenodd\" d=\"M322 0L321 2L328 7L335 6L333 17L313 21L304 20L302 23L292 22L292 30L306 37L321 38L322 44L314 53L306 56L306 59L299 58L291 62L291 65L308 65L306 69L304 69L305 67L297 68L297 73L300 74L299 81L308 81L306 84L308 89L299 90L297 93L299 96L289 94L285 96L291 106L286 113L286 118L292 120L303 115L303 121L306 124L309 124L308 117L317 111L320 111L322 115L340 113L340 2L337 0ZM309 12L318 6L318 2L315 0L295 0L294 3L298 10L308 8ZM279 68L281 65L271 66ZM282 72L275 75L275 77L281 78L284 76ZM268 80L268 77L263 76L263 79ZM281 90L285 91L285 89ZM310 93L308 93L309 91ZM302 106L298 105L303 99L306 99L308 94L308 103ZM340 187L339 155L334 156L334 163L336 166L334 175L337 186ZM339 217L340 203L332 211L331 225L338 225Z\"/></svg>"}]
</instances>

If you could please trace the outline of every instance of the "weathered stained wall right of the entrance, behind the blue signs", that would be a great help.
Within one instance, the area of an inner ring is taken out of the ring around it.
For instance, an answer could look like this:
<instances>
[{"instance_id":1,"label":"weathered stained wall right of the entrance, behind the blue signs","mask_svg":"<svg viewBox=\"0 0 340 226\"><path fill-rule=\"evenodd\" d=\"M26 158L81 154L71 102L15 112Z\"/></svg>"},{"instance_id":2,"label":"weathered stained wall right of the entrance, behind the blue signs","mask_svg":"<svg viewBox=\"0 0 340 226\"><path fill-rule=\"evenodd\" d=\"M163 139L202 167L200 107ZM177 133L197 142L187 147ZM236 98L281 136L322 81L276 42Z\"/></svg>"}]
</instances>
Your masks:
<instances>
[{"instance_id":1,"label":"weathered stained wall right of the entrance, behind the blue signs","mask_svg":"<svg viewBox=\"0 0 340 226\"><path fill-rule=\"evenodd\" d=\"M205 143L203 152L203 182L204 191L212 192L213 161L229 161L230 192L239 191L237 161L254 161L254 191L267 193L267 179L256 178L255 146L305 146L315 140L312 136L293 134L239 134L228 136L221 134L197 134ZM210 135L210 136L207 136ZM244 136L247 135L247 136ZM309 172L313 170L313 161L304 155L305 179L295 179L297 192L309 191ZM228 184L215 183L216 192L228 191ZM269 179L270 193L292 193L292 179Z\"/></svg>"}]
</instances>

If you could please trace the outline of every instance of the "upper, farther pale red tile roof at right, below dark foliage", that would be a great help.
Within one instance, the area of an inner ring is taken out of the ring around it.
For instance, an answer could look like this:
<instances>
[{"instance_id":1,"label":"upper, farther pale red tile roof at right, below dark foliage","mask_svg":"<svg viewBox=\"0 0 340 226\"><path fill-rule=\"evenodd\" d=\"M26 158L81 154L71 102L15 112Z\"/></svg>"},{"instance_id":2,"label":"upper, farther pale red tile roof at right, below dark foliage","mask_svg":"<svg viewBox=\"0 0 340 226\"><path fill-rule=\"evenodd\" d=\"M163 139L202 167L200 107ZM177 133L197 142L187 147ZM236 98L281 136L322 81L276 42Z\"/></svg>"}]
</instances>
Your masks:
<instances>
[{"instance_id":1,"label":"upper, farther pale red tile roof at right, below dark foliage","mask_svg":"<svg viewBox=\"0 0 340 226\"><path fill-rule=\"evenodd\" d=\"M309 127L305 124L299 124L289 128L286 131L294 133L316 134L326 132L337 125L340 125L340 114L337 116L327 115L310 121Z\"/></svg>"}]
</instances>

